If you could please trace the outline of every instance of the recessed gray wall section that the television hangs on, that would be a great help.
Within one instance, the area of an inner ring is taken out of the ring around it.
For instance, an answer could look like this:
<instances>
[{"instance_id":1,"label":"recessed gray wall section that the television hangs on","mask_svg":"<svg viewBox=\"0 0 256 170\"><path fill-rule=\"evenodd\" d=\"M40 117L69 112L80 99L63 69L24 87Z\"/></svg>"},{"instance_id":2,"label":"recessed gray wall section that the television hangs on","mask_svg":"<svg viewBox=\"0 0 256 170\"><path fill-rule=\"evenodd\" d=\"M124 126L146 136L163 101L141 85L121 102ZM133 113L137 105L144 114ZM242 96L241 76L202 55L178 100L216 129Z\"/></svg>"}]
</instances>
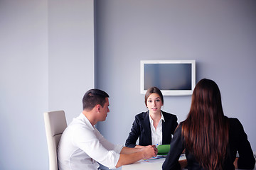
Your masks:
<instances>
[{"instance_id":1,"label":"recessed gray wall section that the television hangs on","mask_svg":"<svg viewBox=\"0 0 256 170\"><path fill-rule=\"evenodd\" d=\"M139 93L140 60L196 60L196 80L213 79L228 117L244 125L256 150L256 1L97 1L97 88L110 94L98 128L124 145ZM186 118L191 96L165 96L164 111Z\"/></svg>"}]
</instances>

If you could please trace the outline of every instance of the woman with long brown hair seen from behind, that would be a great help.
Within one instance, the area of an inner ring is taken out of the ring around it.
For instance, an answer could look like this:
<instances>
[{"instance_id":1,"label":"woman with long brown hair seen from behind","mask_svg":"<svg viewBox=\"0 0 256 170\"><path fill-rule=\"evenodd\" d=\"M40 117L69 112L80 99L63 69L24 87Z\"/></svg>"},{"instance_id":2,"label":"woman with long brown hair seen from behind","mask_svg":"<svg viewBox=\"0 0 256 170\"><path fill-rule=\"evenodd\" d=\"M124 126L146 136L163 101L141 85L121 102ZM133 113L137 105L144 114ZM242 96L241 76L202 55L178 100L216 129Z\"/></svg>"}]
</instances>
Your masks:
<instances>
[{"instance_id":1,"label":"woman with long brown hair seen from behind","mask_svg":"<svg viewBox=\"0 0 256 170\"><path fill-rule=\"evenodd\" d=\"M181 169L178 158L184 149L187 169L255 167L242 124L224 115L220 90L210 79L202 79L196 84L188 117L178 125L162 168ZM237 152L239 158L235 161Z\"/></svg>"}]
</instances>

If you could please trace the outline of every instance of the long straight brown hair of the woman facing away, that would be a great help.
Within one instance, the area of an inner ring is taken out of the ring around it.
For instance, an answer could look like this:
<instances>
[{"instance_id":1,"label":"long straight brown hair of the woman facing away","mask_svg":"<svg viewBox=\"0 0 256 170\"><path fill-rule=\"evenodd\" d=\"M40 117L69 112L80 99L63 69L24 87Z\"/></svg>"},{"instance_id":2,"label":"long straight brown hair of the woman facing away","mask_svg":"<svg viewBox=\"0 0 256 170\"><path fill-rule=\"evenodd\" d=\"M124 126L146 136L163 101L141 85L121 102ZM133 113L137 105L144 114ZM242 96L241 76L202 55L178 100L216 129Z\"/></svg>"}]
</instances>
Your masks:
<instances>
[{"instance_id":1,"label":"long straight brown hair of the woman facing away","mask_svg":"<svg viewBox=\"0 0 256 170\"><path fill-rule=\"evenodd\" d=\"M228 146L228 118L223 114L220 90L214 81L201 79L196 84L182 135L186 149L203 169L223 169Z\"/></svg>"}]
</instances>

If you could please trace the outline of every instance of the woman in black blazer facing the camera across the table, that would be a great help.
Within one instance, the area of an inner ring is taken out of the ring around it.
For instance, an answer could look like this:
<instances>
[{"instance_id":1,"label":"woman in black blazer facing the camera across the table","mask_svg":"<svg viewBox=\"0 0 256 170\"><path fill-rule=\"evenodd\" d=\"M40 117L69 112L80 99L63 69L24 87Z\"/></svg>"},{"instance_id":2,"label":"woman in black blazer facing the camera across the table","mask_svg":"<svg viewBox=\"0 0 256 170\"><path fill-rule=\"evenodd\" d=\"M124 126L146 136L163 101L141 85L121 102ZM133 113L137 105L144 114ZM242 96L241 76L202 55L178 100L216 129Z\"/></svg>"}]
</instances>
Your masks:
<instances>
[{"instance_id":1,"label":"woman in black blazer facing the camera across the table","mask_svg":"<svg viewBox=\"0 0 256 170\"><path fill-rule=\"evenodd\" d=\"M145 104L149 111L135 116L125 146L169 145L171 135L174 134L178 125L176 115L161 111L164 98L161 91L156 87L151 87L146 91ZM138 137L139 145L136 145Z\"/></svg>"}]
</instances>

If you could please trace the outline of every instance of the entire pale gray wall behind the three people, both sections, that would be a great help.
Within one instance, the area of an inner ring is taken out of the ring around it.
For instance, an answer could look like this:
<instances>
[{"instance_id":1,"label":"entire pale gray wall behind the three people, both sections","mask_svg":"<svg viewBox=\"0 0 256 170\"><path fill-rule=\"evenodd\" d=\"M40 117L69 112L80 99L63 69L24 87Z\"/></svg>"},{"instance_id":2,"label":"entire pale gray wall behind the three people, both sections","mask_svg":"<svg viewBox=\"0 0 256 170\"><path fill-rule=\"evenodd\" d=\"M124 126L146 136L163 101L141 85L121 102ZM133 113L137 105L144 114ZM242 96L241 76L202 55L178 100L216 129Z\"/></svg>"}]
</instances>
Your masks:
<instances>
[{"instance_id":1,"label":"entire pale gray wall behind the three people, both sections","mask_svg":"<svg viewBox=\"0 0 256 170\"><path fill-rule=\"evenodd\" d=\"M254 1L96 1L96 58L93 3L0 1L0 169L48 169L43 112L64 109L70 123L94 81L110 94L98 128L124 144L146 111L140 60L195 59L197 81L218 83L225 114L256 150ZM186 118L191 96L164 100L164 111Z\"/></svg>"}]
</instances>

